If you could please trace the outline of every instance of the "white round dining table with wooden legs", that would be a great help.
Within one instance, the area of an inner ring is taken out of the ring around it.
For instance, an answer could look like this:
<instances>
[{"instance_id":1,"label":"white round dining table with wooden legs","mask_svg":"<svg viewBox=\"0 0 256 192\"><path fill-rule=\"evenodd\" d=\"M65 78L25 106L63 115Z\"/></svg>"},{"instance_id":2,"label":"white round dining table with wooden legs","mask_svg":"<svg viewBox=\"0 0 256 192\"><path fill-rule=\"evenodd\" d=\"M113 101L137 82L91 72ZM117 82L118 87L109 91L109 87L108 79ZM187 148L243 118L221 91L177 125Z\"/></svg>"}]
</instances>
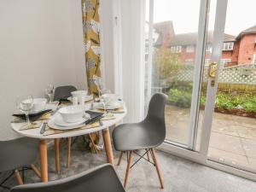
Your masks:
<instances>
[{"instance_id":1,"label":"white round dining table with wooden legs","mask_svg":"<svg viewBox=\"0 0 256 192\"><path fill-rule=\"evenodd\" d=\"M41 179L42 182L48 182L48 155L47 155L47 140L49 139L59 139L65 137L77 137L87 135L96 131L102 131L102 137L104 141L104 147L107 155L108 163L113 165L113 150L109 134L109 127L118 124L122 119L124 119L127 113L127 109L124 107L124 113L113 113L114 119L108 119L102 121L102 125L94 128L88 129L77 129L73 131L65 131L57 134L44 136L40 134L40 128L23 130L20 131L20 127L24 123L11 123L12 129L24 137L33 137L39 139L39 153L40 153L40 164L41 164ZM53 118L53 117L50 117Z\"/></svg>"}]
</instances>

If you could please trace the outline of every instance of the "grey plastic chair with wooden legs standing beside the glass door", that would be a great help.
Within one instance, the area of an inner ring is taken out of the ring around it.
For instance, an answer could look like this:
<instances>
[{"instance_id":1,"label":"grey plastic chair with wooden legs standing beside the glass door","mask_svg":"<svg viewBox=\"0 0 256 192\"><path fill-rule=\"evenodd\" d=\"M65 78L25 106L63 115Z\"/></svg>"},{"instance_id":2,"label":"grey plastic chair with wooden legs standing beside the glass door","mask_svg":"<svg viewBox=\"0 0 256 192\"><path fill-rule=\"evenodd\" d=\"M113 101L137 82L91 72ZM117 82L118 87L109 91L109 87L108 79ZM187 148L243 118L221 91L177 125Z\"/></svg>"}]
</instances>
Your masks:
<instances>
[{"instance_id":1,"label":"grey plastic chair with wooden legs standing beside the glass door","mask_svg":"<svg viewBox=\"0 0 256 192\"><path fill-rule=\"evenodd\" d=\"M150 162L149 154L151 154L154 161L154 166L156 167L156 171L160 179L160 187L162 189L164 188L160 174L160 167L155 156L154 148L163 143L166 138L166 100L167 96L165 94L156 93L154 96L152 96L149 102L147 117L142 122L119 125L113 130L113 146L116 150L121 151L118 166L122 159L123 153L127 151L129 154L125 173L125 187L128 181L130 169L138 161L137 160L131 166L133 154L137 154L137 149L145 149L146 152L143 155L137 154L140 156L139 160L145 159L143 156L147 154L148 161Z\"/></svg>"}]
</instances>

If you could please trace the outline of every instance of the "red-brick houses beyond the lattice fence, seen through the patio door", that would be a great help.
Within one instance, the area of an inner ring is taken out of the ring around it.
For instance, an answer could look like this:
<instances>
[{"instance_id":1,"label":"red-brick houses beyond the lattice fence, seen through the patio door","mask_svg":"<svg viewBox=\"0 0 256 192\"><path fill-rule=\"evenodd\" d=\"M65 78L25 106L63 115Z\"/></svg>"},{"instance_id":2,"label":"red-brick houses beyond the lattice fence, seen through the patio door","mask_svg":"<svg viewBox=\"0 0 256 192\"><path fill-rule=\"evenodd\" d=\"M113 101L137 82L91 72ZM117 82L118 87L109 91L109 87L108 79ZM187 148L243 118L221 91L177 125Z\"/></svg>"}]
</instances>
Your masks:
<instances>
[{"instance_id":1,"label":"red-brick houses beyond the lattice fence, seen through the patio door","mask_svg":"<svg viewBox=\"0 0 256 192\"><path fill-rule=\"evenodd\" d=\"M173 53L180 55L184 64L194 64L197 32L175 34L172 21L154 24L154 30L159 34L154 47L168 47ZM213 32L207 33L206 65L210 61L212 52ZM256 64L256 26L242 31L237 37L224 34L224 44L221 63L227 66L239 64Z\"/></svg>"}]
</instances>

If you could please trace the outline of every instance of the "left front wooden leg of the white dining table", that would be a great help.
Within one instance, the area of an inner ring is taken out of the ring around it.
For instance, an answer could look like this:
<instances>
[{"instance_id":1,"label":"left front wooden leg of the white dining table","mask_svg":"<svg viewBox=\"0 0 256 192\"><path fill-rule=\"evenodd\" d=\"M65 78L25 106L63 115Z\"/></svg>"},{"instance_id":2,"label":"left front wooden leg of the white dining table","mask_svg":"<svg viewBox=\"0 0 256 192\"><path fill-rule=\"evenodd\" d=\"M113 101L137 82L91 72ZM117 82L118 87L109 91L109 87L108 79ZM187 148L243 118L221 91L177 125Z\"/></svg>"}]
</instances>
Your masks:
<instances>
[{"instance_id":1,"label":"left front wooden leg of the white dining table","mask_svg":"<svg viewBox=\"0 0 256 192\"><path fill-rule=\"evenodd\" d=\"M40 163L41 163L41 179L42 182L48 182L48 162L47 162L47 141L40 140Z\"/></svg>"}]
</instances>

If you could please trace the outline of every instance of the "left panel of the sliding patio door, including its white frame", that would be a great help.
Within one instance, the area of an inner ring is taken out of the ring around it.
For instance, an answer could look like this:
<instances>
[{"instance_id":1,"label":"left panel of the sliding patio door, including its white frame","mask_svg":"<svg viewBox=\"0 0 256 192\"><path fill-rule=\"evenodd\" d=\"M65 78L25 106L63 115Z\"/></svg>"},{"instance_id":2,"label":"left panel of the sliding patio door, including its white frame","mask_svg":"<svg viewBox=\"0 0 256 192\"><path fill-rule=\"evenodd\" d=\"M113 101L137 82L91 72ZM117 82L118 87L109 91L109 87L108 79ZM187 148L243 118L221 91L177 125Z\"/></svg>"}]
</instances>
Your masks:
<instances>
[{"instance_id":1,"label":"left panel of the sliding patio door, including its white frame","mask_svg":"<svg viewBox=\"0 0 256 192\"><path fill-rule=\"evenodd\" d=\"M195 150L208 2L146 3L145 111L155 92L166 93L166 143Z\"/></svg>"}]
</instances>

